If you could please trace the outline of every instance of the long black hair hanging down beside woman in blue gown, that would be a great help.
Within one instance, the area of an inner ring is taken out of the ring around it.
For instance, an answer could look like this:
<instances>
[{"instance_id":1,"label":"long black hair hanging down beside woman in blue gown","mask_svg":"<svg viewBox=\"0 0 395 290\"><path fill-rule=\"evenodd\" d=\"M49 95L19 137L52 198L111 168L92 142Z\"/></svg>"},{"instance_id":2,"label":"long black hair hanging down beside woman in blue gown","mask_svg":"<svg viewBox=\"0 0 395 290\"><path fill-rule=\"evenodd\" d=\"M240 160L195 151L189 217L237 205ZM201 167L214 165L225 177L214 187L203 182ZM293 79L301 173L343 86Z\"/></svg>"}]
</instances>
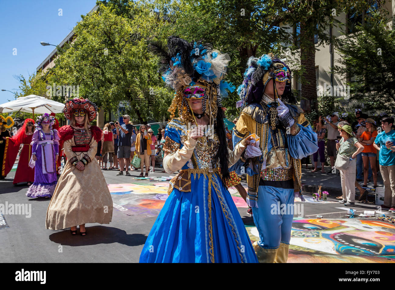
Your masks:
<instances>
[{"instance_id":1,"label":"long black hair hanging down beside woman in blue gown","mask_svg":"<svg viewBox=\"0 0 395 290\"><path fill-rule=\"evenodd\" d=\"M218 140L220 142L218 151L214 157L215 163L219 161L222 179L225 181L229 178L229 153L228 153L228 142L226 138L225 124L224 124L224 111L222 107L218 106L218 112L214 129L217 133Z\"/></svg>"}]
</instances>

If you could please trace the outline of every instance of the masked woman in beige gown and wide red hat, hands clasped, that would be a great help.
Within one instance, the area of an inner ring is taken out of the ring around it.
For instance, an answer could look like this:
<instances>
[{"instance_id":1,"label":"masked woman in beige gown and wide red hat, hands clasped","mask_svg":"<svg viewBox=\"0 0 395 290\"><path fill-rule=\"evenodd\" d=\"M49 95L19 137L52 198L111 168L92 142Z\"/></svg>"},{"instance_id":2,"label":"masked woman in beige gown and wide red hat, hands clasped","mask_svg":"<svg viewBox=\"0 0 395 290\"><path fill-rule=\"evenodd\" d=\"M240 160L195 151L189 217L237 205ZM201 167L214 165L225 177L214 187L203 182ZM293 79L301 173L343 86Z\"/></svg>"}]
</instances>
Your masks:
<instances>
[{"instance_id":1,"label":"masked woman in beige gown and wide red hat, hands clasped","mask_svg":"<svg viewBox=\"0 0 395 290\"><path fill-rule=\"evenodd\" d=\"M70 228L75 235L79 225L81 236L85 236L85 223L111 222L113 201L95 159L102 131L89 125L96 111L96 105L88 99L73 99L63 110L70 125L61 127L59 135L68 160L48 206L48 229Z\"/></svg>"}]
</instances>

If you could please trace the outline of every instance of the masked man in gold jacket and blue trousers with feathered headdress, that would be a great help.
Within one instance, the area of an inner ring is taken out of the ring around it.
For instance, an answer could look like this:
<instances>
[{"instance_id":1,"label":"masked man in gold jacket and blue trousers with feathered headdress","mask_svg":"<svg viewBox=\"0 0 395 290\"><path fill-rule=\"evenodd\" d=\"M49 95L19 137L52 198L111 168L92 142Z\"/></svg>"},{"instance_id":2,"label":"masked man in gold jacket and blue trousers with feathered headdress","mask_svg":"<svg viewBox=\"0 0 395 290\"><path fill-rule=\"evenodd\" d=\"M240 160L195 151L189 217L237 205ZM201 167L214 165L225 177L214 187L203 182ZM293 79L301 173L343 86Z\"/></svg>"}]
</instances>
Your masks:
<instances>
[{"instance_id":1,"label":"masked man in gold jacket and blue trousers with feathered headdress","mask_svg":"<svg viewBox=\"0 0 395 290\"><path fill-rule=\"evenodd\" d=\"M243 108L233 130L233 146L256 134L261 156L246 150L231 169L247 173L247 204L260 240L253 243L260 262L285 263L291 238L293 201L301 195L301 161L317 151L317 134L291 91L291 70L272 54L248 60L238 92ZM259 139L258 139L259 138ZM258 145L258 144L257 144Z\"/></svg>"}]
</instances>

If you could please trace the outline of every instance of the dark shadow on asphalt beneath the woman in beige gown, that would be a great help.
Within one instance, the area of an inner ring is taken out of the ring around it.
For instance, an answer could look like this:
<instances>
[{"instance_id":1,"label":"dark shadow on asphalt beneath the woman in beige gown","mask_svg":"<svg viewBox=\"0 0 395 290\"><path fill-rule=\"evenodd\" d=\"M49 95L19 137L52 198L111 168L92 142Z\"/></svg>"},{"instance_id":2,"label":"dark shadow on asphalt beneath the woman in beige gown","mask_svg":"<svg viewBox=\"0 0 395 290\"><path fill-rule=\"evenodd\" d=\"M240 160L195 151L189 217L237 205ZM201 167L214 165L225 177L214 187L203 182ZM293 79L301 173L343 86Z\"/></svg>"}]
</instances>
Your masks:
<instances>
[{"instance_id":1,"label":"dark shadow on asphalt beneath the woman in beige gown","mask_svg":"<svg viewBox=\"0 0 395 290\"><path fill-rule=\"evenodd\" d=\"M71 247L120 243L127 246L143 245L147 236L143 234L126 234L124 230L110 226L87 226L87 235L81 236L79 229L77 236L71 236L70 228L53 233L49 239L54 243Z\"/></svg>"}]
</instances>

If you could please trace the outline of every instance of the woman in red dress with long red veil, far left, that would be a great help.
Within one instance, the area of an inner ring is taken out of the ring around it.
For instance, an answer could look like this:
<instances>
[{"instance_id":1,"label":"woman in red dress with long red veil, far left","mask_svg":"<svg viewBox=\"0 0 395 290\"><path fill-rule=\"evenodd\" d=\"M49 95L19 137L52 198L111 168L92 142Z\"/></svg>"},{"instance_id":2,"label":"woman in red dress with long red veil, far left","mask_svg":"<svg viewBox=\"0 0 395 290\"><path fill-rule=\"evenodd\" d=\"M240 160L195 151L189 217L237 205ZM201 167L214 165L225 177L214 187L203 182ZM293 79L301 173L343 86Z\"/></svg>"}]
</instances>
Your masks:
<instances>
[{"instance_id":1,"label":"woman in red dress with long red veil, far left","mask_svg":"<svg viewBox=\"0 0 395 290\"><path fill-rule=\"evenodd\" d=\"M19 152L19 147L23 144L13 184L27 182L27 185L31 185L34 182L34 168L29 167L29 161L32 157L32 145L30 145L30 143L32 142L34 132L33 128L34 120L26 119L17 134L9 139L9 155L7 157L12 158L11 161L13 161L13 163Z\"/></svg>"}]
</instances>

